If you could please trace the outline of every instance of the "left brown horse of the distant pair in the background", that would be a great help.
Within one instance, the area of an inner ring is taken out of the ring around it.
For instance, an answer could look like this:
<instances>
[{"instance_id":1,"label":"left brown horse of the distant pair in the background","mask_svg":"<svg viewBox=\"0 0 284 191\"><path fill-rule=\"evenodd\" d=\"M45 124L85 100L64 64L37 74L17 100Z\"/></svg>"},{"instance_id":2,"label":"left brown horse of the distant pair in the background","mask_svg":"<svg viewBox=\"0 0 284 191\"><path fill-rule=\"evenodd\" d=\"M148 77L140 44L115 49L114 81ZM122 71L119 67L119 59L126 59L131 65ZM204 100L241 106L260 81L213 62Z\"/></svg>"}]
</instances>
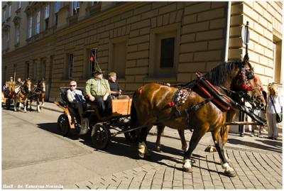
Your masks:
<instances>
[{"instance_id":1,"label":"left brown horse of the distant pair in the background","mask_svg":"<svg viewBox=\"0 0 284 191\"><path fill-rule=\"evenodd\" d=\"M13 84L11 87L12 97L13 97L13 104L14 104L14 111L17 111L16 105L19 102L18 108L21 109L22 102L24 104L23 111L26 113L26 107L28 102L28 95L31 92L31 80L25 80L23 84Z\"/></svg>"}]
</instances>

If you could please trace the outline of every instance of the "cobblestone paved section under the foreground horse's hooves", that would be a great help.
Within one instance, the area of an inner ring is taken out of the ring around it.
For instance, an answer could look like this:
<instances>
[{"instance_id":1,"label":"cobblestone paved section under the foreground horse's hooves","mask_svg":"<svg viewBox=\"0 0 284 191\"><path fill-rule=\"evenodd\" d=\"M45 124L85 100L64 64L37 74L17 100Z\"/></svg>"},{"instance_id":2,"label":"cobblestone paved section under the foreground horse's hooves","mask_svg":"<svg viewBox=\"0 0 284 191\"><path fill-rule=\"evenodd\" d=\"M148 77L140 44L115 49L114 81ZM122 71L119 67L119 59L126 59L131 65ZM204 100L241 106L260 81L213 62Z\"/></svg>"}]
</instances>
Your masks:
<instances>
[{"instance_id":1,"label":"cobblestone paved section under the foreground horse's hooves","mask_svg":"<svg viewBox=\"0 0 284 191\"><path fill-rule=\"evenodd\" d=\"M76 182L65 188L80 189L282 189L282 155L250 151L227 150L236 170L228 178L219 163L217 153L194 155L193 173L182 171L178 163L161 160L102 178Z\"/></svg>"}]
</instances>

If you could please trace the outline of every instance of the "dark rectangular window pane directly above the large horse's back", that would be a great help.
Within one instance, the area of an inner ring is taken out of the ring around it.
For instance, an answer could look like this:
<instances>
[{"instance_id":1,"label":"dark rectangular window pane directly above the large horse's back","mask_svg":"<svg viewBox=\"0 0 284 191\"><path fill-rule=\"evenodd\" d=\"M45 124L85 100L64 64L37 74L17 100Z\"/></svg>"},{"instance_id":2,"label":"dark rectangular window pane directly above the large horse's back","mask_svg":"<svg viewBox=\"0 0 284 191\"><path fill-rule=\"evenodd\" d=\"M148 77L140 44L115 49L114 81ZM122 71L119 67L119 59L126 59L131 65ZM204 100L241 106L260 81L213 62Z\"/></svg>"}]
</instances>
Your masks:
<instances>
[{"instance_id":1,"label":"dark rectangular window pane directly above the large horse's back","mask_svg":"<svg viewBox=\"0 0 284 191\"><path fill-rule=\"evenodd\" d=\"M160 68L173 68L175 38L163 38L160 42Z\"/></svg>"}]
</instances>

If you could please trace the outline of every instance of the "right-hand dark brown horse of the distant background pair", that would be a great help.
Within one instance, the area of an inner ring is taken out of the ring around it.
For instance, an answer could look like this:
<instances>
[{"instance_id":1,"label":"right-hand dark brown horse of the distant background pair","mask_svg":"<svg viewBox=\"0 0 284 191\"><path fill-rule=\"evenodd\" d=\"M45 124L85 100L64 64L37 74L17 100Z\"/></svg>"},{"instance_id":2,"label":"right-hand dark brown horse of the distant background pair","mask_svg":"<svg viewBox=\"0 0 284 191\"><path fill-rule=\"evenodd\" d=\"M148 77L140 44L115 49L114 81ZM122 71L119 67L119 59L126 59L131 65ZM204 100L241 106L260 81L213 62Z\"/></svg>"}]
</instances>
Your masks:
<instances>
[{"instance_id":1,"label":"right-hand dark brown horse of the distant background pair","mask_svg":"<svg viewBox=\"0 0 284 191\"><path fill-rule=\"evenodd\" d=\"M44 107L44 98L45 98L45 80L41 79L37 84L33 86L33 95L31 96L30 102L33 102L33 99L36 101L36 111L40 113L40 109ZM41 100L41 105L40 105ZM30 104L31 111L31 104Z\"/></svg>"}]
</instances>

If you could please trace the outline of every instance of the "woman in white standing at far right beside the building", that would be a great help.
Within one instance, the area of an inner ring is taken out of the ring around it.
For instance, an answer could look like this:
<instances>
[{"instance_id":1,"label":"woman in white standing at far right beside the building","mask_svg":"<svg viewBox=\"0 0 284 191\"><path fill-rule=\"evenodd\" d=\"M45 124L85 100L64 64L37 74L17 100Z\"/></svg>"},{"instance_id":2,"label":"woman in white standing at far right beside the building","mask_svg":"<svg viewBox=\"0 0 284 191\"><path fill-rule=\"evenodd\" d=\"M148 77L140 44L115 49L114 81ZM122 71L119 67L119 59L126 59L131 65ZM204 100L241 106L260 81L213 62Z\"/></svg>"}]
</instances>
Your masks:
<instances>
[{"instance_id":1,"label":"woman in white standing at far right beside the building","mask_svg":"<svg viewBox=\"0 0 284 191\"><path fill-rule=\"evenodd\" d=\"M267 119L268 119L268 138L277 140L278 123L276 121L276 113L282 113L282 99L275 90L273 84L268 84L268 103L267 103ZM275 112L276 110L276 112Z\"/></svg>"}]
</instances>

